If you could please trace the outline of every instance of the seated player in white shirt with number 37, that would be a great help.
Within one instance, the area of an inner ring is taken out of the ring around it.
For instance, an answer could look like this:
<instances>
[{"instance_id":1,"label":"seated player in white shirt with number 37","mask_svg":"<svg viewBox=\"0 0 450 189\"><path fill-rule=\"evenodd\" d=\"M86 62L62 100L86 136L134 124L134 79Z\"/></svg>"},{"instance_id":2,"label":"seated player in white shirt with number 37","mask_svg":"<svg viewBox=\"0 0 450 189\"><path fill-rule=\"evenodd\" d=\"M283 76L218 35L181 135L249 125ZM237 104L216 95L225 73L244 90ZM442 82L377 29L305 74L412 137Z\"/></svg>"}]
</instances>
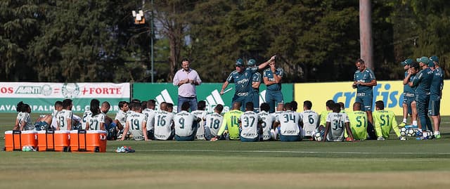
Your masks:
<instances>
[{"instance_id":1,"label":"seated player in white shirt with number 37","mask_svg":"<svg viewBox=\"0 0 450 189\"><path fill-rule=\"evenodd\" d=\"M259 141L259 134L262 133L261 122L261 117L253 111L253 103L245 103L245 112L239 118L240 141Z\"/></svg>"}]
</instances>

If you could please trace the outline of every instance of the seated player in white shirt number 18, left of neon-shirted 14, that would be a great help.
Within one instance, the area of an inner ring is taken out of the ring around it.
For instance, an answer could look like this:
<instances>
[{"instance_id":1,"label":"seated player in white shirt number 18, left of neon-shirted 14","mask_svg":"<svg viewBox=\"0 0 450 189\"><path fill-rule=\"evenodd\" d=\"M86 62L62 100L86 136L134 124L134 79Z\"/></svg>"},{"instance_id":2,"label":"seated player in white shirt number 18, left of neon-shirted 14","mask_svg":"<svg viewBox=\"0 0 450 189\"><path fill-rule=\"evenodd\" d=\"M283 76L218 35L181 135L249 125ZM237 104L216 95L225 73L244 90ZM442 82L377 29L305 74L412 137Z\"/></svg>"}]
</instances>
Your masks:
<instances>
[{"instance_id":1,"label":"seated player in white shirt number 18, left of neon-shirted 14","mask_svg":"<svg viewBox=\"0 0 450 189\"><path fill-rule=\"evenodd\" d=\"M217 136L224 117L221 115L224 105L216 105L214 113L206 115L205 118L205 139L210 141L211 138ZM219 136L219 140L224 140L224 135Z\"/></svg>"}]
</instances>

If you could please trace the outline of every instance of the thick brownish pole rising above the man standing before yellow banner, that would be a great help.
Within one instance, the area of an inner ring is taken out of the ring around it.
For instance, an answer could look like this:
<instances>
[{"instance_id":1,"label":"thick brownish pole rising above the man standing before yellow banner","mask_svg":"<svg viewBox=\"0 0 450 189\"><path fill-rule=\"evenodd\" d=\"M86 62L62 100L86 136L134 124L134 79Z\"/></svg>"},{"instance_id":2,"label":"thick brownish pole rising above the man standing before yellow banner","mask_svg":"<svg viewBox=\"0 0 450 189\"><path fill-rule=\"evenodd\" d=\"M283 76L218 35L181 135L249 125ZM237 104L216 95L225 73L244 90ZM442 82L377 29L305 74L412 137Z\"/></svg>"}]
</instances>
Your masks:
<instances>
[{"instance_id":1,"label":"thick brownish pole rising above the man standing before yellow banner","mask_svg":"<svg viewBox=\"0 0 450 189\"><path fill-rule=\"evenodd\" d=\"M359 0L359 40L361 58L373 70L371 0Z\"/></svg>"}]
</instances>

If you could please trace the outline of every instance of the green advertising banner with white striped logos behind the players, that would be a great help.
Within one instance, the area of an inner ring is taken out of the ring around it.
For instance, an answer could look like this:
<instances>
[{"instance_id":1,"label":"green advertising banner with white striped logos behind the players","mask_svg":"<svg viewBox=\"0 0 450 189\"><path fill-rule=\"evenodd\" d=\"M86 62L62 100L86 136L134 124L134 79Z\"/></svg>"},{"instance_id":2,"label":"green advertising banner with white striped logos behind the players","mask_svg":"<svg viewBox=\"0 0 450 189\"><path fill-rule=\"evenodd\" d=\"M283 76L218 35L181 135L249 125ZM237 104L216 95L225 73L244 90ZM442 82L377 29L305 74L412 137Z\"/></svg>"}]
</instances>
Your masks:
<instances>
[{"instance_id":1,"label":"green advertising banner with white striped logos behind the players","mask_svg":"<svg viewBox=\"0 0 450 189\"><path fill-rule=\"evenodd\" d=\"M224 105L224 111L229 111L231 100L234 96L234 84L229 84L224 95L220 95L222 83L204 83L196 87L197 100L205 100L207 111L212 112L218 104ZM285 102L293 100L293 84L282 84L282 93ZM266 86L259 86L259 103L265 102ZM150 84L150 83L134 83L133 98L139 100L154 99L159 105L162 102L173 103L177 106L178 87L172 83ZM174 107L174 110L176 108Z\"/></svg>"}]
</instances>

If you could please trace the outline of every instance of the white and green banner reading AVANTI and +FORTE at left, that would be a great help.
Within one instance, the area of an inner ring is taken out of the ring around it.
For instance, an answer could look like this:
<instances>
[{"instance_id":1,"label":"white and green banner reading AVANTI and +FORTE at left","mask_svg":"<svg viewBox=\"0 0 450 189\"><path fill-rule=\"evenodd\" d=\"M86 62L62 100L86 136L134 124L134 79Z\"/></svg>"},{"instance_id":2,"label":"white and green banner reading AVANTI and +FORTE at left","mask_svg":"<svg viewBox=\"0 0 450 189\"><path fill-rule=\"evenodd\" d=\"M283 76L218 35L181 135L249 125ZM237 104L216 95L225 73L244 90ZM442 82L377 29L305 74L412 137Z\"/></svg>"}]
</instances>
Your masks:
<instances>
[{"instance_id":1,"label":"white and green banner reading AVANTI and +FORTE at left","mask_svg":"<svg viewBox=\"0 0 450 189\"><path fill-rule=\"evenodd\" d=\"M110 111L117 111L121 100L129 101L129 83L32 83L0 82L0 112L16 112L15 105L23 101L32 112L52 112L57 100L73 100L72 111L84 112L92 98L108 101Z\"/></svg>"}]
</instances>

